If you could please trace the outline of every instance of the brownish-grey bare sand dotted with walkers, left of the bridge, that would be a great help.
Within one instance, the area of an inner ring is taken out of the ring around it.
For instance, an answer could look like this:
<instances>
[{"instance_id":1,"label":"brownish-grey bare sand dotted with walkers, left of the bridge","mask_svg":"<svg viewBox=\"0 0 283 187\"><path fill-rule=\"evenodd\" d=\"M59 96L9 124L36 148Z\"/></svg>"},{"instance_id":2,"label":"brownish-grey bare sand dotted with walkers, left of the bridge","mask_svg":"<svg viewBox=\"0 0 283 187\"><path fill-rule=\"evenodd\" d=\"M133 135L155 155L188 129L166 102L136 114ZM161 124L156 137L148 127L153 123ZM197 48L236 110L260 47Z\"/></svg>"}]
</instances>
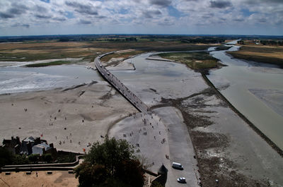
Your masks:
<instances>
[{"instance_id":1,"label":"brownish-grey bare sand dotted with walkers, left of the bridge","mask_svg":"<svg viewBox=\"0 0 283 187\"><path fill-rule=\"evenodd\" d=\"M25 111L27 109L27 111ZM83 152L137 109L104 81L74 88L0 95L0 137L40 137L57 150Z\"/></svg>"}]
</instances>

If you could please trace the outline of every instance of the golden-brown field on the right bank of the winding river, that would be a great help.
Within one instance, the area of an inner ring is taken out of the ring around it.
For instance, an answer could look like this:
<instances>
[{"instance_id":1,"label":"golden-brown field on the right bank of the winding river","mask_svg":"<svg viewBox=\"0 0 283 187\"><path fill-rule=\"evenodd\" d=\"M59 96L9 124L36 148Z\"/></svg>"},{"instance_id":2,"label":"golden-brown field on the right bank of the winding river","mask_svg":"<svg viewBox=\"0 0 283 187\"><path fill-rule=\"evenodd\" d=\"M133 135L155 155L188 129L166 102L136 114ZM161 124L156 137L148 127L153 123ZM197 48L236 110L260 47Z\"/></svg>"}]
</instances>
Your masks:
<instances>
[{"instance_id":1,"label":"golden-brown field on the right bank of the winding river","mask_svg":"<svg viewBox=\"0 0 283 187\"><path fill-rule=\"evenodd\" d=\"M283 47L243 45L238 52L228 53L238 59L276 64L283 68Z\"/></svg>"}]
</instances>

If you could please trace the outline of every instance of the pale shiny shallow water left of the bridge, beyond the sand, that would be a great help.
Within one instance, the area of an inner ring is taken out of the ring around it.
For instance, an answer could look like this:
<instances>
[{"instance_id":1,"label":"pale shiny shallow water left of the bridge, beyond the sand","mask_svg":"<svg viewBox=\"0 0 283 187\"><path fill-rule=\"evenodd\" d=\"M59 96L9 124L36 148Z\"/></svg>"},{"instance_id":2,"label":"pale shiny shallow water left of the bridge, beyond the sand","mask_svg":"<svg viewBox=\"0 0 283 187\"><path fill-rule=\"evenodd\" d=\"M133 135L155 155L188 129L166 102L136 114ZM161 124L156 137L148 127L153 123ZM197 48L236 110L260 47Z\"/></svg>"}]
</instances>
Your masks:
<instances>
[{"instance_id":1,"label":"pale shiny shallow water left of the bridge, beyond the sand","mask_svg":"<svg viewBox=\"0 0 283 187\"><path fill-rule=\"evenodd\" d=\"M0 67L0 94L52 90L102 80L85 66Z\"/></svg>"}]
</instances>

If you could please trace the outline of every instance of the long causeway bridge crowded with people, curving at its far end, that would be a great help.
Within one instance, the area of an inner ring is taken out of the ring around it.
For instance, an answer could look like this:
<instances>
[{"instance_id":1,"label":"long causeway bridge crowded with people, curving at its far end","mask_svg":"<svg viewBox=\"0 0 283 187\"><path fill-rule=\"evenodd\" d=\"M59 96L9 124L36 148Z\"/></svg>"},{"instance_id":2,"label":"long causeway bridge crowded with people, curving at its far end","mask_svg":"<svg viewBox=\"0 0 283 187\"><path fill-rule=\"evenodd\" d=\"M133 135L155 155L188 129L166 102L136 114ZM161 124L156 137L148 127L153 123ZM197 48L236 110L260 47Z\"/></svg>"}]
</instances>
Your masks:
<instances>
[{"instance_id":1,"label":"long causeway bridge crowded with people, curving at its far end","mask_svg":"<svg viewBox=\"0 0 283 187\"><path fill-rule=\"evenodd\" d=\"M108 80L108 83L110 83L125 98L127 98L129 100L129 102L131 102L134 105L134 107L136 107L139 111L141 111L144 114L150 114L149 107L147 107L146 104L144 104L144 102L142 102L141 99L139 99L139 97L134 95L134 93L131 90L129 90L129 88L127 88L123 83L121 83L121 81L118 78L116 78L112 73L110 73L110 71L108 71L101 64L100 59L103 56L108 55L108 54L113 54L113 53L115 53L115 52L105 53L105 54L102 54L102 55L96 57L94 63L96 65L96 68L98 69L99 73L101 74L101 76L103 76L103 78Z\"/></svg>"}]
</instances>

